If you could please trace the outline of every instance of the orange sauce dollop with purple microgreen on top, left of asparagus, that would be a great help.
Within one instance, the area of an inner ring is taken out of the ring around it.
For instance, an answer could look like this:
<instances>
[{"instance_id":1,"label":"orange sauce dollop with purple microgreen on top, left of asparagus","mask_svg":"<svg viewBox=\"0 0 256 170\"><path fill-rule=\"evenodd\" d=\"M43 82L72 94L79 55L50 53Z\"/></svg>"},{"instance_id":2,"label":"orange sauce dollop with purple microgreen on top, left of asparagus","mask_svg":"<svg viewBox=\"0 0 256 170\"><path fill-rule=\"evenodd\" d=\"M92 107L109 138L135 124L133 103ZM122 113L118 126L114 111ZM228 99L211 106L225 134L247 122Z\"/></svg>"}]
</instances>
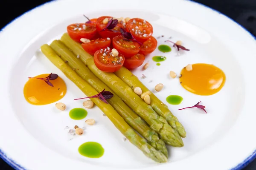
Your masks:
<instances>
[{"instance_id":1,"label":"orange sauce dollop with purple microgreen on top, left of asparagus","mask_svg":"<svg viewBox=\"0 0 256 170\"><path fill-rule=\"evenodd\" d=\"M36 77L44 78L49 74L41 74ZM49 80L52 85L48 85L42 79L29 78L26 82L23 93L27 102L32 105L47 105L62 99L66 92L67 86L61 77L55 80Z\"/></svg>"}]
</instances>

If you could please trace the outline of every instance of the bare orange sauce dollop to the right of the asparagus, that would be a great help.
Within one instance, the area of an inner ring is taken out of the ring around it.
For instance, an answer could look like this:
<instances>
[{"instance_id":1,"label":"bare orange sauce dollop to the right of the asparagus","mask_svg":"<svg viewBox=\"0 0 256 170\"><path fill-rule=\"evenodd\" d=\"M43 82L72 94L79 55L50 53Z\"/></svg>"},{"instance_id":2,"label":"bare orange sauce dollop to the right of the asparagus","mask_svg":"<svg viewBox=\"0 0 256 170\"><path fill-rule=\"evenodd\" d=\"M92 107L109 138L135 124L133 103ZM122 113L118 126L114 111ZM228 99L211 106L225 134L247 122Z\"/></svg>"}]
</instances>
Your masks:
<instances>
[{"instance_id":1,"label":"bare orange sauce dollop to the right of the asparagus","mask_svg":"<svg viewBox=\"0 0 256 170\"><path fill-rule=\"evenodd\" d=\"M208 96L217 93L224 86L224 72L211 64L197 63L192 65L192 71L183 68L180 72L180 83L183 88L193 94Z\"/></svg>"}]
</instances>

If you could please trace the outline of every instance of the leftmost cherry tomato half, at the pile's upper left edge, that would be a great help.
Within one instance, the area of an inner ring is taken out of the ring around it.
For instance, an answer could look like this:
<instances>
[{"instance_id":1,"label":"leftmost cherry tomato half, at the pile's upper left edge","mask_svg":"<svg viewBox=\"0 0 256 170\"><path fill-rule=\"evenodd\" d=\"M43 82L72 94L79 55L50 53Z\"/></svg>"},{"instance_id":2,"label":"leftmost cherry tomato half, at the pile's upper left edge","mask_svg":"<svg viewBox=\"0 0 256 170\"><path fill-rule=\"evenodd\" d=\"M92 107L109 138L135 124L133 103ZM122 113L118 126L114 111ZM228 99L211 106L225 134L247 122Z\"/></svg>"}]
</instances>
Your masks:
<instances>
[{"instance_id":1,"label":"leftmost cherry tomato half, at the pile's upper left edge","mask_svg":"<svg viewBox=\"0 0 256 170\"><path fill-rule=\"evenodd\" d=\"M91 39L96 33L96 27L91 23L77 23L67 26L67 34L76 42L81 42L81 38Z\"/></svg>"}]
</instances>

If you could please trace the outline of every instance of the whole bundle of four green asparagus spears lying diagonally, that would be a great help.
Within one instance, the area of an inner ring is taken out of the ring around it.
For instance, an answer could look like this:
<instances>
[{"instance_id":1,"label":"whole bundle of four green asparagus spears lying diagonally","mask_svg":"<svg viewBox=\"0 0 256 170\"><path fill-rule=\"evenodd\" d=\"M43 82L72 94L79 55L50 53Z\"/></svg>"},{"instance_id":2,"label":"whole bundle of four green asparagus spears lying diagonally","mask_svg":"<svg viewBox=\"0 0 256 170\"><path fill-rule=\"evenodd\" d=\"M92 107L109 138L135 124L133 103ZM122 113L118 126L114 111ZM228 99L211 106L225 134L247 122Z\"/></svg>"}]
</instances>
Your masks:
<instances>
[{"instance_id":1,"label":"whole bundle of four green asparagus spears lying diagonally","mask_svg":"<svg viewBox=\"0 0 256 170\"><path fill-rule=\"evenodd\" d=\"M96 98L91 100L146 156L157 162L166 162L168 153L165 142L174 147L183 146L181 137L186 136L184 127L153 93L150 94L151 103L147 105L133 92L135 87L140 87L143 92L149 90L129 70L122 67L114 74L100 71L94 64L93 57L67 33L61 40L54 40L50 46L42 45L41 51L86 96L93 96L103 89L113 93L113 97L108 99L110 105Z\"/></svg>"}]
</instances>

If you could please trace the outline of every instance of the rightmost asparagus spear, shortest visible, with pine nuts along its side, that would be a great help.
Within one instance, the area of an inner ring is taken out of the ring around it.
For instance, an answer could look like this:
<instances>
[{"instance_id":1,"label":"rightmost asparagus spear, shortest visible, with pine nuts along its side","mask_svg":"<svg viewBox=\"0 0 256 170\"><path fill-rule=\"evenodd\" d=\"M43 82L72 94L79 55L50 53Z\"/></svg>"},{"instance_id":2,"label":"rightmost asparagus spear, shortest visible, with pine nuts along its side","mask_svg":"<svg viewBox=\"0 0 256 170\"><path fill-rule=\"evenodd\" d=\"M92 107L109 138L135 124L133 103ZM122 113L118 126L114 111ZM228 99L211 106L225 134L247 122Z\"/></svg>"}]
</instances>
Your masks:
<instances>
[{"instance_id":1,"label":"rightmost asparagus spear, shortest visible, with pine nuts along its side","mask_svg":"<svg viewBox=\"0 0 256 170\"><path fill-rule=\"evenodd\" d=\"M127 68L122 67L119 71L116 71L115 74L132 89L134 89L135 87L140 87L143 92L149 91L148 88L146 88L145 85L143 85L143 83L140 82L140 80L136 76L134 76L134 74L132 74L131 71L129 71ZM150 99L150 105L154 109L154 111L156 111L159 116L165 118L169 125L177 130L181 137L186 137L186 131L183 125L181 125L177 117L172 114L168 107L163 104L163 102L161 102L161 100L158 99L157 96L155 96L153 93L150 94Z\"/></svg>"}]
</instances>

